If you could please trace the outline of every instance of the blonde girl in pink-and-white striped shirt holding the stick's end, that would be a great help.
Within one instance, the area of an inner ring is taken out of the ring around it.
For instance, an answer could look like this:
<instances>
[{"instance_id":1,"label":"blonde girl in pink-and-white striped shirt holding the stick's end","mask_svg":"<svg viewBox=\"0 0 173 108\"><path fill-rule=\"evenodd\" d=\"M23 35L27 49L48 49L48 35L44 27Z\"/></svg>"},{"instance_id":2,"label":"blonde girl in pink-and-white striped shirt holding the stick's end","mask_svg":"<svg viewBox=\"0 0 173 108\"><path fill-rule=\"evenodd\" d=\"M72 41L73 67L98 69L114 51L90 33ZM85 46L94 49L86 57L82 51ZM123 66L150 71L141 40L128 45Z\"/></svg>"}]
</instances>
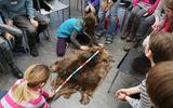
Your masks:
<instances>
[{"instance_id":1,"label":"blonde girl in pink-and-white striped shirt holding the stick's end","mask_svg":"<svg viewBox=\"0 0 173 108\"><path fill-rule=\"evenodd\" d=\"M31 65L0 100L0 108L50 108L45 98L54 95L42 90L51 71L43 64Z\"/></svg>"}]
</instances>

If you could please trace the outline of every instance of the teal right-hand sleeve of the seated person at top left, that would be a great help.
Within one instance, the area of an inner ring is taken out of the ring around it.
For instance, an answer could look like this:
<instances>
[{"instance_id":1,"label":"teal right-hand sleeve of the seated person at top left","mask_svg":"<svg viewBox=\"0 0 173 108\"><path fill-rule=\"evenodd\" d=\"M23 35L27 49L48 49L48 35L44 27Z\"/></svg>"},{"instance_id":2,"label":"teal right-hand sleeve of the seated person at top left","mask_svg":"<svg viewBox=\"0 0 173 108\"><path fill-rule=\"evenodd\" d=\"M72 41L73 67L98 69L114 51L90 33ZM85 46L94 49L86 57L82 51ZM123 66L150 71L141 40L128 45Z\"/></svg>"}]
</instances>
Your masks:
<instances>
[{"instance_id":1,"label":"teal right-hand sleeve of the seated person at top left","mask_svg":"<svg viewBox=\"0 0 173 108\"><path fill-rule=\"evenodd\" d=\"M29 18L35 17L35 9L32 0L26 0L26 10Z\"/></svg>"}]
</instances>

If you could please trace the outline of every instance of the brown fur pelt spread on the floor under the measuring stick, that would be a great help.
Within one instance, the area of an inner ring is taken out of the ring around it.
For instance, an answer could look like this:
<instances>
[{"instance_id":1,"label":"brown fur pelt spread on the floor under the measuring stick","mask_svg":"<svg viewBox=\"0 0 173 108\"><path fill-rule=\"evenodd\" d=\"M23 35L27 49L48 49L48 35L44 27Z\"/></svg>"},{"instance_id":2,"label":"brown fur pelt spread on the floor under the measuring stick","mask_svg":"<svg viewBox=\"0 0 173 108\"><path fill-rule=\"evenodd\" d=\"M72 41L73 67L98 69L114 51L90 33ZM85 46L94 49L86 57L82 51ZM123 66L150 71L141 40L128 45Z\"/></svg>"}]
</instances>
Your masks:
<instances>
[{"instance_id":1,"label":"brown fur pelt spread on the floor under the measuring stick","mask_svg":"<svg viewBox=\"0 0 173 108\"><path fill-rule=\"evenodd\" d=\"M90 51L74 50L62 60L55 62L51 69L57 72L57 77L52 81L52 86L56 90L79 66L81 66L92 54L97 51L93 46ZM75 92L81 93L81 104L90 103L95 89L108 73L112 56L102 50L91 62L81 68L57 93L69 98Z\"/></svg>"}]
</instances>

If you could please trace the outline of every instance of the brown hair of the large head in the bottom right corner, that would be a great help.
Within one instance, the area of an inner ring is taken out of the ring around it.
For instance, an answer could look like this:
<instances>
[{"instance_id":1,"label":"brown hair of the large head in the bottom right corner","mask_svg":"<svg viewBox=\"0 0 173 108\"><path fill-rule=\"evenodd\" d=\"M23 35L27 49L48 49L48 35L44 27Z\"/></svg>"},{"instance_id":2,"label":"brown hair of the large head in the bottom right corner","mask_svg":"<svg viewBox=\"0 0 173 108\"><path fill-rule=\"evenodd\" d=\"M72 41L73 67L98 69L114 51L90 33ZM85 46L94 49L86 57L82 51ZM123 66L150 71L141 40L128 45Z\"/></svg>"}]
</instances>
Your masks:
<instances>
[{"instance_id":1,"label":"brown hair of the large head in the bottom right corner","mask_svg":"<svg viewBox=\"0 0 173 108\"><path fill-rule=\"evenodd\" d=\"M146 80L148 95L157 108L173 107L173 62L152 67Z\"/></svg>"}]
</instances>

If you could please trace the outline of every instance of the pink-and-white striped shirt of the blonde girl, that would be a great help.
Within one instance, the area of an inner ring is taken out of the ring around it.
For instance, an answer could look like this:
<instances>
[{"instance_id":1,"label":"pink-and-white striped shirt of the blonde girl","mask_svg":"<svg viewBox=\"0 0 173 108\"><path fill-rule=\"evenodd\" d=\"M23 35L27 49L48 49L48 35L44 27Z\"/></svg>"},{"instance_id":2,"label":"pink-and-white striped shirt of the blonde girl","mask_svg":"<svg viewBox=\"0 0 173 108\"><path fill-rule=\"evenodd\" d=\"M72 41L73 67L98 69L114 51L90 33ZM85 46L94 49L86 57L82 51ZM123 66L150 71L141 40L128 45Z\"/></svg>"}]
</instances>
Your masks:
<instances>
[{"instance_id":1,"label":"pink-and-white striped shirt of the blonde girl","mask_svg":"<svg viewBox=\"0 0 173 108\"><path fill-rule=\"evenodd\" d=\"M23 81L24 79L19 79L14 83L14 85L21 84ZM37 98L28 102L22 102L19 104L16 103L13 97L12 91L12 89L9 90L9 92L2 97L0 100L0 108L50 108L50 105L45 102L45 97L48 97L49 94L42 89L40 90L40 95Z\"/></svg>"}]
</instances>

